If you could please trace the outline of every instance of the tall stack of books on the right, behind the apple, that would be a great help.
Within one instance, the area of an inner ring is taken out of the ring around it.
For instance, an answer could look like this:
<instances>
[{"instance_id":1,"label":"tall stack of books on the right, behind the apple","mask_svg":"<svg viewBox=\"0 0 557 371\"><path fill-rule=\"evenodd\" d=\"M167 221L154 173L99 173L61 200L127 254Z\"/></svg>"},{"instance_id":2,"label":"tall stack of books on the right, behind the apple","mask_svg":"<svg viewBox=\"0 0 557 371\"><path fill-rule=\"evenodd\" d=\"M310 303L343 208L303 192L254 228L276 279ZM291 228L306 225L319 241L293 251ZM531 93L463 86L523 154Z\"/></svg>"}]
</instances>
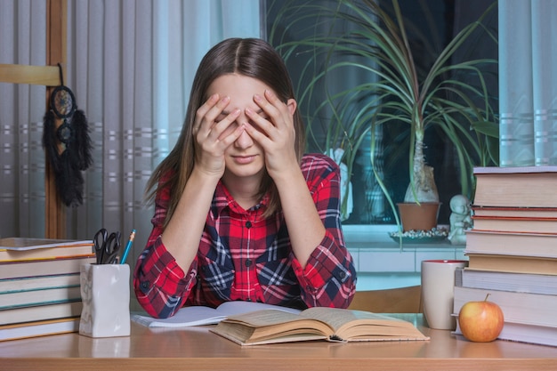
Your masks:
<instances>
[{"instance_id":1,"label":"tall stack of books on the right, behind the apple","mask_svg":"<svg viewBox=\"0 0 557 371\"><path fill-rule=\"evenodd\" d=\"M505 316L499 338L557 346L557 166L474 173L470 262L456 272L454 311L489 294Z\"/></svg>"}]
</instances>

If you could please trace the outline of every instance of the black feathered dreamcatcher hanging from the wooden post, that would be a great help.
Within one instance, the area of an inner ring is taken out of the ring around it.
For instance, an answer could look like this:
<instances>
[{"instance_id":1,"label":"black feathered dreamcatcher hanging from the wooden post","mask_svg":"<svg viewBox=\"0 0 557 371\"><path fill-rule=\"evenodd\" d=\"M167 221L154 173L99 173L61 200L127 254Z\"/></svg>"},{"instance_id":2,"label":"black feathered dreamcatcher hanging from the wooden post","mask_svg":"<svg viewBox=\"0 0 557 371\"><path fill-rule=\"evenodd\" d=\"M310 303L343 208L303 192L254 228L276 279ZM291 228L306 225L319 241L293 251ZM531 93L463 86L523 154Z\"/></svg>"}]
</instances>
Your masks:
<instances>
[{"instance_id":1,"label":"black feathered dreamcatcher hanging from the wooden post","mask_svg":"<svg viewBox=\"0 0 557 371\"><path fill-rule=\"evenodd\" d=\"M59 65L60 67L60 65ZM66 206L83 204L84 177L81 173L93 164L87 118L77 109L74 94L64 86L54 89L50 109L44 114L43 147L52 165L56 190ZM56 128L56 119L63 120ZM63 147L61 153L59 145Z\"/></svg>"}]
</instances>

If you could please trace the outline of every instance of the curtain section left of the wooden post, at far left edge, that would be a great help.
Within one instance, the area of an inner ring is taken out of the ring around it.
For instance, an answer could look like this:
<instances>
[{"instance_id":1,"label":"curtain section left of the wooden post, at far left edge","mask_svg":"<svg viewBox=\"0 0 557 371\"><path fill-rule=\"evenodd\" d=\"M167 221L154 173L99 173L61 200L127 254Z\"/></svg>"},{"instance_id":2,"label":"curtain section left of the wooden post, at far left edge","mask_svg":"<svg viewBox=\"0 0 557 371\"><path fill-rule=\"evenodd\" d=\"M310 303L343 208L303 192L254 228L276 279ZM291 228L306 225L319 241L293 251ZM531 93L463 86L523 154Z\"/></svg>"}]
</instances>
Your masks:
<instances>
[{"instance_id":1,"label":"curtain section left of the wooden post, at far left edge","mask_svg":"<svg viewBox=\"0 0 557 371\"><path fill-rule=\"evenodd\" d=\"M41 1L2 1L0 63L44 65L45 13ZM43 236L45 88L0 83L0 97L0 236Z\"/></svg>"}]
</instances>

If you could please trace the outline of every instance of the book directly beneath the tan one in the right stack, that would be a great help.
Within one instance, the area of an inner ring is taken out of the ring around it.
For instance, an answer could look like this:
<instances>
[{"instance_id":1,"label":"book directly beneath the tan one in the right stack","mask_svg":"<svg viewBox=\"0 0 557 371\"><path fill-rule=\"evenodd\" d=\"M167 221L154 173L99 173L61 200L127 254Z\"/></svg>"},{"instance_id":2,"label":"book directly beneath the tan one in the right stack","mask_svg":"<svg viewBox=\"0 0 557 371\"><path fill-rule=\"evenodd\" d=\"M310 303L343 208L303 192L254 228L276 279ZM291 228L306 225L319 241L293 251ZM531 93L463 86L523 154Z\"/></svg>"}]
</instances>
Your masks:
<instances>
[{"instance_id":1,"label":"book directly beneath the tan one in the right stack","mask_svg":"<svg viewBox=\"0 0 557 371\"><path fill-rule=\"evenodd\" d=\"M457 268L455 286L556 295L557 276Z\"/></svg>"}]
</instances>

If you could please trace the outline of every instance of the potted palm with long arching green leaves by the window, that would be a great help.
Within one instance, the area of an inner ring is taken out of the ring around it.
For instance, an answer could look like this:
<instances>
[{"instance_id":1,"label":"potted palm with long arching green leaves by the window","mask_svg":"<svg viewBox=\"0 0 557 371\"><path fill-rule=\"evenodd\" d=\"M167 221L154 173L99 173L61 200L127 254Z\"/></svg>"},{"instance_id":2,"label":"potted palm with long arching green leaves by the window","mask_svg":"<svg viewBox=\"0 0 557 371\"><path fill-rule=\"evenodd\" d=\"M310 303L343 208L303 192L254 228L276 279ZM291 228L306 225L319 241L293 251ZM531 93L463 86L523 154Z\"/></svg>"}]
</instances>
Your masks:
<instances>
[{"instance_id":1,"label":"potted palm with long arching green leaves by the window","mask_svg":"<svg viewBox=\"0 0 557 371\"><path fill-rule=\"evenodd\" d=\"M482 24L486 14L496 9L496 3L439 51L424 45L433 56L426 69L416 65L399 1L390 3L392 7L386 10L375 0L278 2L270 7L279 21L270 29L269 38L287 63L294 60L301 71L297 93L300 106L306 109L303 116L309 136L316 135L317 120L327 117L325 151L343 149L349 176L358 149L368 143L375 180L397 224L403 230L413 230L416 227L408 226L405 218L401 224L373 156L378 129L406 125L409 183L404 203L400 204L433 205L432 222L417 227L424 230L436 225L439 207L433 169L424 157L428 129L436 128L454 146L458 181L469 198L473 192L472 167L497 163L496 109L482 69L496 64L496 60L454 60L459 48L478 31L493 37L496 43L496 36ZM341 89L329 89L331 79L348 69L359 71L363 78ZM310 104L319 94L317 103ZM346 199L343 207L345 204ZM420 219L424 221L423 216Z\"/></svg>"}]
</instances>

